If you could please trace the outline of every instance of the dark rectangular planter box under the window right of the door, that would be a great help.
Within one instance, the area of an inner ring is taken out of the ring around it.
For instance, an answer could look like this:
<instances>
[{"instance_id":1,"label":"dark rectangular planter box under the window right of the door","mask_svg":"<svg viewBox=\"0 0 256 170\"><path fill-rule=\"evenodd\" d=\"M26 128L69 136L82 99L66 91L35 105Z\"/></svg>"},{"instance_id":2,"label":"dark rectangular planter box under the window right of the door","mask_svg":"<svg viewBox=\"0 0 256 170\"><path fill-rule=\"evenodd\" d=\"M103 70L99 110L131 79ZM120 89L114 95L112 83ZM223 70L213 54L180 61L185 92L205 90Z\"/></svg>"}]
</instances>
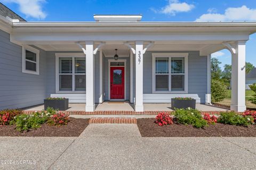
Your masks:
<instances>
[{"instance_id":1,"label":"dark rectangular planter box under the window right of the door","mask_svg":"<svg viewBox=\"0 0 256 170\"><path fill-rule=\"evenodd\" d=\"M174 108L196 108L196 99L191 97L175 97L172 98L172 109Z\"/></svg>"}]
</instances>

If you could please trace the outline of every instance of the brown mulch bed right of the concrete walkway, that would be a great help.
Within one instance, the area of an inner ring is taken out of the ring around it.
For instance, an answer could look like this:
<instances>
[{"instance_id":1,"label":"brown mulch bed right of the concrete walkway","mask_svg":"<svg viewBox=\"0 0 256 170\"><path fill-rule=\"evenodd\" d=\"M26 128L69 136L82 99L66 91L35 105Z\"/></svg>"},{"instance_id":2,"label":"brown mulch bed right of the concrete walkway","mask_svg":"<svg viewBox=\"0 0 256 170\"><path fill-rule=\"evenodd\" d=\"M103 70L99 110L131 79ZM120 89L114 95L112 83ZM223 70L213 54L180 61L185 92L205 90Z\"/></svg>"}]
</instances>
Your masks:
<instances>
[{"instance_id":1,"label":"brown mulch bed right of the concrete walkway","mask_svg":"<svg viewBox=\"0 0 256 170\"><path fill-rule=\"evenodd\" d=\"M249 127L217 123L205 129L191 125L172 124L159 126L155 118L139 118L137 125L142 137L256 137L256 125Z\"/></svg>"}]
</instances>

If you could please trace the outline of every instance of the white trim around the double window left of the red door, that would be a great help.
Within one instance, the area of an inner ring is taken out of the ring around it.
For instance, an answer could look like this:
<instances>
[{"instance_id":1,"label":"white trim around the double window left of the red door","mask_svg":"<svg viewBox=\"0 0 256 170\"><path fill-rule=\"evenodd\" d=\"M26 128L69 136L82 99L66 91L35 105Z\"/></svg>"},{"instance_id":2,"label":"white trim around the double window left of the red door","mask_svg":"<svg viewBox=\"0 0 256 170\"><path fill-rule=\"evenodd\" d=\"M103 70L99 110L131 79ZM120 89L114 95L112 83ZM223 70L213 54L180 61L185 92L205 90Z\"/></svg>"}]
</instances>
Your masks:
<instances>
[{"instance_id":1,"label":"white trim around the double window left of the red door","mask_svg":"<svg viewBox=\"0 0 256 170\"><path fill-rule=\"evenodd\" d=\"M85 57L83 53L55 53L55 93L56 94L85 94L85 91L75 91L75 76L72 77L72 91L60 91L59 83L59 58L60 57L72 57L73 64L75 63L75 57ZM75 75L75 67L72 66L72 75ZM85 73L86 75L86 73Z\"/></svg>"}]
</instances>

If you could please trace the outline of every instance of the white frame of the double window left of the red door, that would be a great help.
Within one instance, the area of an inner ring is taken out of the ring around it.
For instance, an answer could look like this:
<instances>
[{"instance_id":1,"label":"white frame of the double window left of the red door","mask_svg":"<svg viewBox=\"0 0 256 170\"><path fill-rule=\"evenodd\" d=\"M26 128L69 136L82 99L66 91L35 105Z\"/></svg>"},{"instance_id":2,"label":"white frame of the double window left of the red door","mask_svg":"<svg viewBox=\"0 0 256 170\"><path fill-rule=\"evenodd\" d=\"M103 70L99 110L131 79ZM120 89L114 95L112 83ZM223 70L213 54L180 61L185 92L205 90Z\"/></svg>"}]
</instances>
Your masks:
<instances>
[{"instance_id":1,"label":"white frame of the double window left of the red door","mask_svg":"<svg viewBox=\"0 0 256 170\"><path fill-rule=\"evenodd\" d=\"M70 73L59 73L59 58L72 58L72 74ZM55 53L55 93L56 94L86 94L86 90L75 91L75 75L86 75L85 73L75 73L75 58L84 57L83 53ZM86 69L86 68L85 68ZM72 75L72 91L60 91L60 75ZM86 88L86 87L85 87Z\"/></svg>"}]
</instances>

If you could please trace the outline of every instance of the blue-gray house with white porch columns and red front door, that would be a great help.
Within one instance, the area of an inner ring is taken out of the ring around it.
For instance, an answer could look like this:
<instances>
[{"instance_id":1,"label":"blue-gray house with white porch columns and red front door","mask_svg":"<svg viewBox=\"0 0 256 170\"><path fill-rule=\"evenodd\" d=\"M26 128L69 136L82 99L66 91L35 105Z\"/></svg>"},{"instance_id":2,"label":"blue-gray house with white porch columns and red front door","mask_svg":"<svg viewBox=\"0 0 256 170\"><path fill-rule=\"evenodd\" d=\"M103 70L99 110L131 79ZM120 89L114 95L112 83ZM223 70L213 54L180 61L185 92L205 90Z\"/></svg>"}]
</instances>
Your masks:
<instances>
[{"instance_id":1,"label":"blue-gray house with white porch columns and red front door","mask_svg":"<svg viewBox=\"0 0 256 170\"><path fill-rule=\"evenodd\" d=\"M0 16L0 109L129 100L211 103L211 54L232 54L234 111L245 110L245 42L255 22L140 22L141 15L94 15L95 22L18 22ZM16 19L16 18L14 18ZM117 49L117 51L115 50ZM114 60L115 54L118 60Z\"/></svg>"}]
</instances>

